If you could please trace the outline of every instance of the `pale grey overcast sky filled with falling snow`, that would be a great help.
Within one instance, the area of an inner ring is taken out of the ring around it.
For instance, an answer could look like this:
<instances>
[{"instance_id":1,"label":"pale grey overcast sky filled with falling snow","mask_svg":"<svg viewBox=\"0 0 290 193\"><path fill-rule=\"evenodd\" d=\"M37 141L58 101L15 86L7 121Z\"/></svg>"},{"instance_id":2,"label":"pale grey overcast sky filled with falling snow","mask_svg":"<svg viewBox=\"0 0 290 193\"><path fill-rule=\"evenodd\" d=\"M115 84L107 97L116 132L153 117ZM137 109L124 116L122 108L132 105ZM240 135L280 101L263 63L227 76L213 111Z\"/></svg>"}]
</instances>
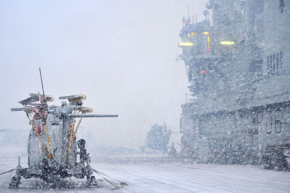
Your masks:
<instances>
[{"instance_id":1,"label":"pale grey overcast sky filled with falling snow","mask_svg":"<svg viewBox=\"0 0 290 193\"><path fill-rule=\"evenodd\" d=\"M41 92L85 94L93 113L118 118L87 118L107 145L137 147L150 126L179 131L180 105L189 86L177 44L182 16L201 14L206 1L6 1L0 0L0 122L2 129L29 129L24 112L11 107ZM199 18L204 19L203 16ZM141 121L139 121L141 120ZM139 124L138 124L139 123Z\"/></svg>"}]
</instances>

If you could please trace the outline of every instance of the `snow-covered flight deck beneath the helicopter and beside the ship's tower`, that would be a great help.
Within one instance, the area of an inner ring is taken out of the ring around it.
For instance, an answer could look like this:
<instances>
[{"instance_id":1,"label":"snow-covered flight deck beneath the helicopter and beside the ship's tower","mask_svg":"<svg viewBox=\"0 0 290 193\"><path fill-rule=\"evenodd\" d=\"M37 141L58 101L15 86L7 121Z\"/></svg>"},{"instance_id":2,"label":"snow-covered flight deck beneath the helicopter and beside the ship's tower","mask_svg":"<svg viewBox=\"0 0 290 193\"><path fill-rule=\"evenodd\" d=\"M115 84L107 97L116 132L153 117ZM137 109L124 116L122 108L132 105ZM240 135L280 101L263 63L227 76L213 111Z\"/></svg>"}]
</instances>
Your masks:
<instances>
[{"instance_id":1,"label":"snow-covered flight deck beneath the helicopter and beside the ship's tower","mask_svg":"<svg viewBox=\"0 0 290 193\"><path fill-rule=\"evenodd\" d=\"M25 154L22 156L21 165L27 167ZM0 158L0 172L13 169L16 165L17 157L11 155ZM169 159L165 155L150 157L142 154L92 158L91 166L128 185L112 190L113 186L104 180L98 183L98 187L85 188L85 179L72 177L71 180L62 180L62 187L53 189L40 179L22 178L19 189L8 189L14 175L14 172L10 172L0 176L0 192L290 192L290 172L266 170L261 166L198 164L190 160ZM98 174L95 176L96 179L102 179ZM114 179L104 177L118 184Z\"/></svg>"}]
</instances>

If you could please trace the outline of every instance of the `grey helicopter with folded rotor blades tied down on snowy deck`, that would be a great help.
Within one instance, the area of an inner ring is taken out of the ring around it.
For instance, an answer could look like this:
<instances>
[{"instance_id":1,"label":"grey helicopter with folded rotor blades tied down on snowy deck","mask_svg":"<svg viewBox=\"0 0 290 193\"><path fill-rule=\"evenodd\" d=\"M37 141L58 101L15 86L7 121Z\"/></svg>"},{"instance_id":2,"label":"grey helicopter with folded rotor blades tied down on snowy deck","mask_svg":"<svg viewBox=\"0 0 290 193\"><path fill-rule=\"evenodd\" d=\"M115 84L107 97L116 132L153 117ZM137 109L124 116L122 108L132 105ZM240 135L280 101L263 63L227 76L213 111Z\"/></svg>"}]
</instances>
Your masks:
<instances>
[{"instance_id":1,"label":"grey helicopter with folded rotor blades tied down on snowy deck","mask_svg":"<svg viewBox=\"0 0 290 193\"><path fill-rule=\"evenodd\" d=\"M63 101L61 106L48 106L47 102L53 101L54 98L44 94L42 78L41 84L43 94L30 94L29 98L19 102L23 105L22 108L11 109L24 111L32 129L27 145L28 167L22 168L18 157L16 175L12 177L9 188L18 188L21 177L37 177L54 186L57 186L61 178L86 177L87 186L96 185L95 176L92 176L94 169L89 165L90 157L85 149L85 140L77 141L76 133L82 118L118 115L87 114L93 109L82 106L82 100L86 99L82 94L60 96L59 99L68 99L69 104ZM80 118L77 125L76 118ZM80 157L79 162L77 154Z\"/></svg>"}]
</instances>

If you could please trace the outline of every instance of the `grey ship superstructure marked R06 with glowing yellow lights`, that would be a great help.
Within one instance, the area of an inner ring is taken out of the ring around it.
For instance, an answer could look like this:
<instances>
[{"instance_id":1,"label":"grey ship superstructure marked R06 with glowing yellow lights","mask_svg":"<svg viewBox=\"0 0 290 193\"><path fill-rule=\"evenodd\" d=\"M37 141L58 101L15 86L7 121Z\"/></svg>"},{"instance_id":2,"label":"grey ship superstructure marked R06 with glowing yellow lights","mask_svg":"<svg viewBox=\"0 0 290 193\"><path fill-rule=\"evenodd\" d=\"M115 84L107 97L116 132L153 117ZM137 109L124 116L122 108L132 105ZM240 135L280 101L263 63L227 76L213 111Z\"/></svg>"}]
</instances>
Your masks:
<instances>
[{"instance_id":1,"label":"grey ship superstructure marked R06 with glowing yellow lights","mask_svg":"<svg viewBox=\"0 0 290 193\"><path fill-rule=\"evenodd\" d=\"M290 2L211 0L206 8L212 21L182 19L179 58L192 95L182 104L182 154L202 163L283 168L290 147Z\"/></svg>"}]
</instances>

